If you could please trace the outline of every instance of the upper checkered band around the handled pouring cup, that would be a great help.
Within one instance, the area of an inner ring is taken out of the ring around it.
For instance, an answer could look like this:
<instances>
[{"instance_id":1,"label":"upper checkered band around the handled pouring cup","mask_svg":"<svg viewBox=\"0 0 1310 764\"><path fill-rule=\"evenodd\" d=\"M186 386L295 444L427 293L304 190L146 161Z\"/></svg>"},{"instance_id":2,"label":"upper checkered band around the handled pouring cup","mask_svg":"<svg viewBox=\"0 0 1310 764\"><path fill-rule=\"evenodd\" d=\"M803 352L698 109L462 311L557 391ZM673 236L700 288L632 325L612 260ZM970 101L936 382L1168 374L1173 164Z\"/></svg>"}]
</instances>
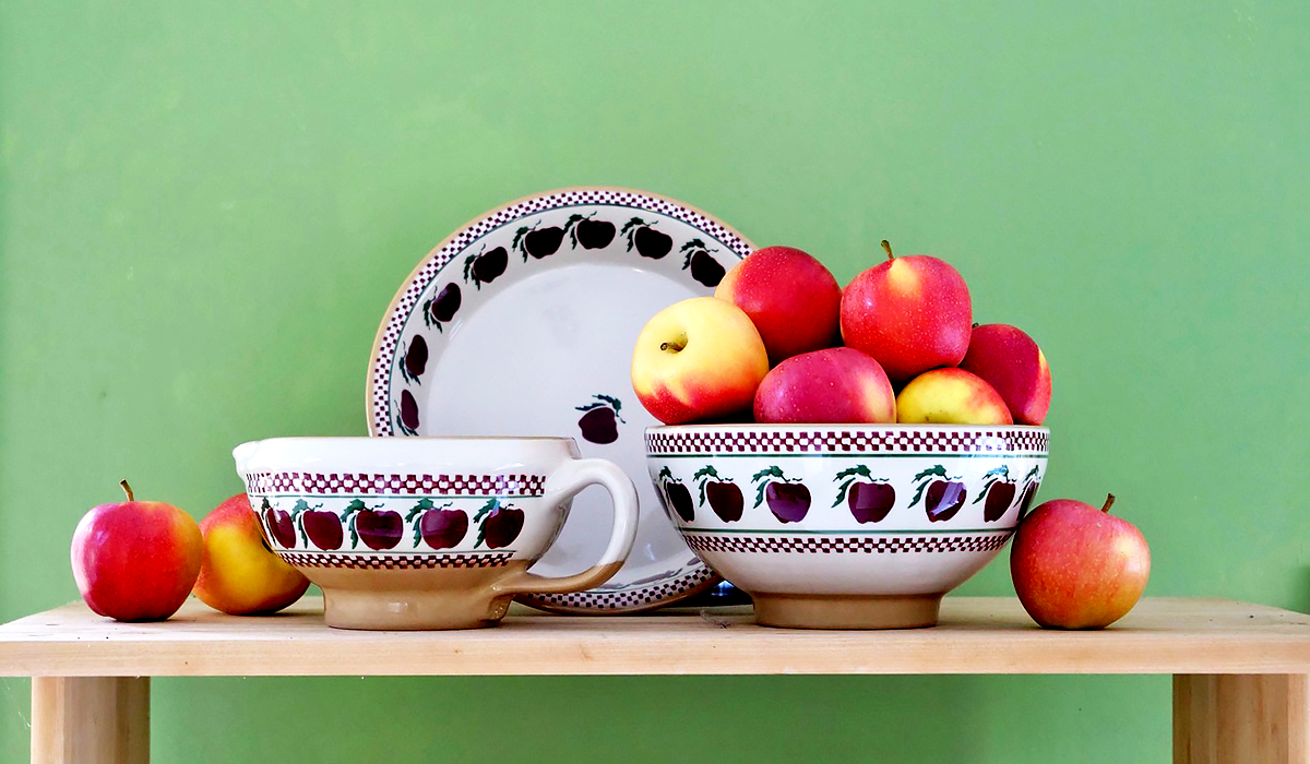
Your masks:
<instances>
[{"instance_id":1,"label":"upper checkered band around the handled pouring cup","mask_svg":"<svg viewBox=\"0 0 1310 764\"><path fill-rule=\"evenodd\" d=\"M544 474L373 474L258 472L249 477L252 494L396 494L540 497Z\"/></svg>"}]
</instances>

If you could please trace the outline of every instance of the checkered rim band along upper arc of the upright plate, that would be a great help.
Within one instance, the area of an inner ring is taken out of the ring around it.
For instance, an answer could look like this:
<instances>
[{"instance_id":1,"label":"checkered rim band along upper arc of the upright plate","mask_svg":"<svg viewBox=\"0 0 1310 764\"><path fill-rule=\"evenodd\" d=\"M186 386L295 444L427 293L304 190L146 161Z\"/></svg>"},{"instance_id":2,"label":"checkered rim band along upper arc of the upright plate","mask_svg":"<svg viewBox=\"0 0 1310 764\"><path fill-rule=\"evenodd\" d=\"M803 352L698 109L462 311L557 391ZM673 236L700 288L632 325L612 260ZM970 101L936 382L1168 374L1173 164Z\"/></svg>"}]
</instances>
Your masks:
<instances>
[{"instance_id":1,"label":"checkered rim band along upper arc of the upright plate","mask_svg":"<svg viewBox=\"0 0 1310 764\"><path fill-rule=\"evenodd\" d=\"M507 207L502 207L479 218L476 223L465 227L453 235L444 245L428 253L426 261L414 274L405 292L401 295L386 317L381 334L379 335L377 358L373 368L369 370L369 426L373 435L394 435L394 422L392 421L392 405L386 400L386 391L390 385L392 364L396 358L396 349L400 343L401 330L405 321L419 304L423 292L436 278L443 267L457 254L464 252L472 242L486 236L491 231L517 220L520 218L548 212L561 207L575 207L578 204L612 204L616 207L637 207L660 215L667 215L681 220L715 239L738 257L751 253L752 245L736 231L723 223L686 207L672 199L627 191L622 189L572 189L566 191L548 191L529 197Z\"/></svg>"}]
</instances>

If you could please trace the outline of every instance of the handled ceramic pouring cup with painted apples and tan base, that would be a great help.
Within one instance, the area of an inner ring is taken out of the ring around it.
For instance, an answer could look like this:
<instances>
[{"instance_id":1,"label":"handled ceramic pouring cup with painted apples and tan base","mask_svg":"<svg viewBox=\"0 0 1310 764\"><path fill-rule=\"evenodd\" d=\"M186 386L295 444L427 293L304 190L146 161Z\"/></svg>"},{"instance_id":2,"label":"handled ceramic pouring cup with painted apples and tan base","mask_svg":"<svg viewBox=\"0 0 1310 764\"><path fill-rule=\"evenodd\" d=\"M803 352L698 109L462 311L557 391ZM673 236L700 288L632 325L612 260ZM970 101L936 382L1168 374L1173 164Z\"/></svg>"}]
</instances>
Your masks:
<instances>
[{"instance_id":1,"label":"handled ceramic pouring cup with painted apples and tan base","mask_svg":"<svg viewBox=\"0 0 1310 764\"><path fill-rule=\"evenodd\" d=\"M516 595L604 583L637 533L631 480L566 438L276 438L233 457L265 540L324 590L333 626L493 625ZM591 485L613 501L601 549L572 575L527 573Z\"/></svg>"}]
</instances>

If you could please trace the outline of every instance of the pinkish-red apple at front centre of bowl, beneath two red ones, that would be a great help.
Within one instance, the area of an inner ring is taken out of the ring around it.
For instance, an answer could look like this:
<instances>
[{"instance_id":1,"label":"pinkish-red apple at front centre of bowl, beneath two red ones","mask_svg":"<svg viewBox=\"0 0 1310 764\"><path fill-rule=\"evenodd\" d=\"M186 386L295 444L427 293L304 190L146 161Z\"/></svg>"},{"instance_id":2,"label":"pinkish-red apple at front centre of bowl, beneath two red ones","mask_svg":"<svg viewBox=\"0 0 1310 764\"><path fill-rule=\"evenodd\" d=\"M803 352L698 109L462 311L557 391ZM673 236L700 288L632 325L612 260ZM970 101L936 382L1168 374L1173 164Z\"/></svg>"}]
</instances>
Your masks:
<instances>
[{"instance_id":1,"label":"pinkish-red apple at front centre of bowl, beneath two red ones","mask_svg":"<svg viewBox=\"0 0 1310 764\"><path fill-rule=\"evenodd\" d=\"M794 355L755 392L756 422L876 423L896 421L896 393L883 367L850 347Z\"/></svg>"}]
</instances>

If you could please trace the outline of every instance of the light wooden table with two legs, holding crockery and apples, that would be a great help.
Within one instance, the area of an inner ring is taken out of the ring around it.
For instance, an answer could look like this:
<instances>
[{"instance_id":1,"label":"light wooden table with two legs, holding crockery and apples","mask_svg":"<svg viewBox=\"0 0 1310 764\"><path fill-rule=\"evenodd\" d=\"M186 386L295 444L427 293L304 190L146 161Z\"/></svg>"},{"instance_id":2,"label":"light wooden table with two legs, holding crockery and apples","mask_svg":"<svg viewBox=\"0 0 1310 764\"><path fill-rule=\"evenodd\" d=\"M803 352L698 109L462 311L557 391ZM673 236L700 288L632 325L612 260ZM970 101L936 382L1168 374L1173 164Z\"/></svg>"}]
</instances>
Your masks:
<instances>
[{"instance_id":1,"label":"light wooden table with two legs, holding crockery and apples","mask_svg":"<svg viewBox=\"0 0 1310 764\"><path fill-rule=\"evenodd\" d=\"M1310 761L1310 616L1146 599L1103 632L1034 626L1013 598L947 596L933 629L756 626L751 611L571 617L515 605L493 629L343 632L282 615L118 624L81 603L0 626L0 676L31 676L34 763L149 759L151 676L1172 674L1175 763Z\"/></svg>"}]
</instances>

